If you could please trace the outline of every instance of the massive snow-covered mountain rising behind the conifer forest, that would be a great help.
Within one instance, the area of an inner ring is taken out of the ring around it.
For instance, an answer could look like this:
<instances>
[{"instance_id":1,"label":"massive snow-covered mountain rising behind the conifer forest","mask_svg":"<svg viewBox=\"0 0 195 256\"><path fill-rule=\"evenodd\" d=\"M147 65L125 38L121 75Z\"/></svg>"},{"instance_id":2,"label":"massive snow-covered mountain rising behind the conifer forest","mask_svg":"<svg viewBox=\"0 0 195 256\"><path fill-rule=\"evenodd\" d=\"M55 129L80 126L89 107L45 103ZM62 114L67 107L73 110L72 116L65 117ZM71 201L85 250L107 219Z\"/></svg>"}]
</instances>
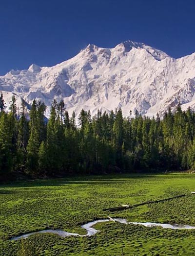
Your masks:
<instances>
[{"instance_id":1,"label":"massive snow-covered mountain rising behind the conifer forest","mask_svg":"<svg viewBox=\"0 0 195 256\"><path fill-rule=\"evenodd\" d=\"M81 109L110 111L121 108L147 116L160 115L178 101L195 108L195 53L179 59L142 43L127 41L114 48L88 45L75 57L54 67L31 65L0 76L0 91L9 105L12 94L31 104L47 106L63 99L71 114ZM48 108L49 111L49 108Z\"/></svg>"}]
</instances>

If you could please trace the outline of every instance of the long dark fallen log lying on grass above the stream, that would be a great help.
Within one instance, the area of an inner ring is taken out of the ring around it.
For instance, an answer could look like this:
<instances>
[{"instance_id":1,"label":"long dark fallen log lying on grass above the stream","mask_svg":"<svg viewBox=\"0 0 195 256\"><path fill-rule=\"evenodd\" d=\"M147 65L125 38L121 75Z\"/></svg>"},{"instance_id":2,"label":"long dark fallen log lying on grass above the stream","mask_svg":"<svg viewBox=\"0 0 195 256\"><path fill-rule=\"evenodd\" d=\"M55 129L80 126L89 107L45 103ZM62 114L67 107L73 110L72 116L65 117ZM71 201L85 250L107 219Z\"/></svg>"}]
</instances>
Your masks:
<instances>
[{"instance_id":1,"label":"long dark fallen log lying on grass above the stream","mask_svg":"<svg viewBox=\"0 0 195 256\"><path fill-rule=\"evenodd\" d=\"M179 198L179 197L183 197L183 196L186 196L186 195L182 194L182 195L177 195L177 196L173 196L173 197L169 197L169 198L164 198L164 199L159 199L159 200L155 200L155 201L147 201L147 202L143 202L143 203L140 203L140 204L135 204L135 205L132 205L132 206L122 205L122 206L119 206L119 207L107 208L107 209L102 209L102 210L103 211L106 211L106 210L109 210L109 211L125 210L125 209L129 209L129 208L133 208L133 207L138 207L138 206L142 206L142 205L154 204L154 203L159 203L159 202L165 202L165 201L172 200L172 199Z\"/></svg>"}]
</instances>

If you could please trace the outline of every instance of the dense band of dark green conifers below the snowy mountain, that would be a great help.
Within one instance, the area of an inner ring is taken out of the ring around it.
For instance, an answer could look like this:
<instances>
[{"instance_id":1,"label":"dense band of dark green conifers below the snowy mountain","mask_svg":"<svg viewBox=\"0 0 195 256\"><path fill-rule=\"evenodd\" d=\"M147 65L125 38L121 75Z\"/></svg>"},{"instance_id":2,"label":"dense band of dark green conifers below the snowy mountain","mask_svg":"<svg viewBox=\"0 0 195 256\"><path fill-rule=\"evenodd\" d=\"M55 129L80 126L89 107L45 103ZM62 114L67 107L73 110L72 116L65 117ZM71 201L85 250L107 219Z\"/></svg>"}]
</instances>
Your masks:
<instances>
[{"instance_id":1,"label":"dense band of dark green conifers below the snowy mountain","mask_svg":"<svg viewBox=\"0 0 195 256\"><path fill-rule=\"evenodd\" d=\"M30 113L13 96L7 112L0 95L0 176L108 173L120 170L195 168L195 113L169 109L162 119L123 117L122 111L96 116L82 110L76 125L63 101L55 100L50 118L44 103L33 101Z\"/></svg>"}]
</instances>

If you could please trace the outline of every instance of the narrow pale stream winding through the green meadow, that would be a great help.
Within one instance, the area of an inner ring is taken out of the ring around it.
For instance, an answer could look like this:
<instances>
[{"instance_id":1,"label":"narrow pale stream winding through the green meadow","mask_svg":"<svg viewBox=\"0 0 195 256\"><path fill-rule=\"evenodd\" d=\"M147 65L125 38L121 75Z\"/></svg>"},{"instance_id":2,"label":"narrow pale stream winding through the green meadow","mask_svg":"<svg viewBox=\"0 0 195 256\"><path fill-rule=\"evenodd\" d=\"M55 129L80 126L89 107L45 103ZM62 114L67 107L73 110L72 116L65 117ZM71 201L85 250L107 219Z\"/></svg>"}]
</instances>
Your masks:
<instances>
[{"instance_id":1,"label":"narrow pale stream winding through the green meadow","mask_svg":"<svg viewBox=\"0 0 195 256\"><path fill-rule=\"evenodd\" d=\"M95 224L101 223L101 222L108 222L108 221L111 221L111 219L99 219L99 220L88 222L87 224L82 225L81 228L83 228L87 231L87 234L85 234L85 235L80 235L78 233L69 233L69 232L65 232L63 230L42 230L42 231L37 231L37 232L32 232L32 233L26 233L26 234L23 234L20 236L15 236L15 237L12 237L10 240L19 240L22 238L28 238L31 235L40 234L40 233L53 233L53 234L58 234L61 237L66 237L66 236L71 236L71 235L90 236L90 235L94 235L94 234L100 232L99 230L92 228ZM127 222L127 220L120 219L120 218L114 218L114 221L122 223L122 224L142 225L145 227L162 227L163 229L172 229L172 230L195 229L194 226L188 226L188 225L177 225L177 224L171 225L171 224L162 224L162 223L153 223L153 222Z\"/></svg>"}]
</instances>

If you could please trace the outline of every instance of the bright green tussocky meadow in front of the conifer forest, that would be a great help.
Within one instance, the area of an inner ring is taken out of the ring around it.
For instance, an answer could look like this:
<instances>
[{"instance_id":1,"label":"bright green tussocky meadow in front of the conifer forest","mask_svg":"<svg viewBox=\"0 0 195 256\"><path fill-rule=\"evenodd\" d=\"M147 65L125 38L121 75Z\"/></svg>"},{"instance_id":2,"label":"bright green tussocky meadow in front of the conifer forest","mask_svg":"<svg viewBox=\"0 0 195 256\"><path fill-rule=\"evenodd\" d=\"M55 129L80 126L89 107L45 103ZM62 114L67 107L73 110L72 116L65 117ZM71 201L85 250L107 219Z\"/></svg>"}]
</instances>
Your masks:
<instances>
[{"instance_id":1,"label":"bright green tussocky meadow in front of the conifer forest","mask_svg":"<svg viewBox=\"0 0 195 256\"><path fill-rule=\"evenodd\" d=\"M16 256L21 241L12 236L43 229L83 234L81 224L122 217L129 221L195 226L195 174L115 175L31 181L0 186L0 256ZM171 201L134 209L103 208L136 204L187 193ZM97 224L90 237L38 234L26 241L40 256L195 256L195 230L165 230L114 222Z\"/></svg>"}]
</instances>

